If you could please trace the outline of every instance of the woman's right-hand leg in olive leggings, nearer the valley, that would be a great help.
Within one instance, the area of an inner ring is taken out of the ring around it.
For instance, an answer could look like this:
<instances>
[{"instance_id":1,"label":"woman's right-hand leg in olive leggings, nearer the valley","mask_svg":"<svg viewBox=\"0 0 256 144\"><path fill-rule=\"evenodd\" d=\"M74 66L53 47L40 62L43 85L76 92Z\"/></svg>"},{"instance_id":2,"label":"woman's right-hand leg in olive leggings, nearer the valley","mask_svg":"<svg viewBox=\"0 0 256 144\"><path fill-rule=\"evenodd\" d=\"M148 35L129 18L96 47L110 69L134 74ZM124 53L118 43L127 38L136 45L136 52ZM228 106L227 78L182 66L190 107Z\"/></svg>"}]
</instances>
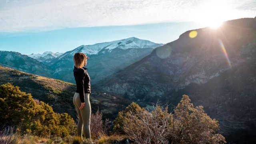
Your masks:
<instances>
[{"instance_id":1,"label":"woman's right-hand leg in olive leggings, nearer the valley","mask_svg":"<svg viewBox=\"0 0 256 144\"><path fill-rule=\"evenodd\" d=\"M85 138L91 139L91 133L90 133L90 120L91 120L91 104L89 100L90 94L84 94L85 95L85 104L84 108L81 111L82 119L83 119L83 131L85 134Z\"/></svg>"}]
</instances>

